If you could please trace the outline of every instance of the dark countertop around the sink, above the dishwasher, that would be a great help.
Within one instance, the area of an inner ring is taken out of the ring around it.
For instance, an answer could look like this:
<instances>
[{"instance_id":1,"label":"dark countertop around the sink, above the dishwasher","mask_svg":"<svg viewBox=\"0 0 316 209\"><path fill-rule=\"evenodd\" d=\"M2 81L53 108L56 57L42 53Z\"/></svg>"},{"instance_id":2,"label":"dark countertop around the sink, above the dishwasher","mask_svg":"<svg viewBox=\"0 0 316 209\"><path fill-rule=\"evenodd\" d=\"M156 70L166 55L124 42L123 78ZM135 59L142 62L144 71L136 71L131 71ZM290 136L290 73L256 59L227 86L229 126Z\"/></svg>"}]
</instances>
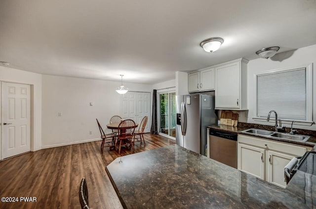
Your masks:
<instances>
[{"instance_id":1,"label":"dark countertop around the sink, above the dishwasher","mask_svg":"<svg viewBox=\"0 0 316 209\"><path fill-rule=\"evenodd\" d=\"M221 131L227 131L227 132L236 133L236 134L248 135L248 136L257 137L257 138L269 139L269 140L274 140L274 141L281 141L281 142L286 142L286 143L291 143L291 144L298 144L298 145L303 145L303 146L309 146L309 147L316 146L316 143L309 142L309 141L301 142L301 141L293 141L293 140L287 140L287 139L266 137L266 136L261 136L261 135L258 136L256 134L252 134L252 133L241 132L241 130L231 130L232 126L225 126L225 125L221 125L221 126L212 125L212 126L206 126L206 128L215 129L215 130L221 130ZM227 128L223 128L223 127L227 127ZM238 127L238 126L236 128L240 129L240 127ZM241 129L242 129L242 131L244 131L244 130L247 130L247 129L250 129L250 128L249 127L241 127Z\"/></svg>"}]
</instances>

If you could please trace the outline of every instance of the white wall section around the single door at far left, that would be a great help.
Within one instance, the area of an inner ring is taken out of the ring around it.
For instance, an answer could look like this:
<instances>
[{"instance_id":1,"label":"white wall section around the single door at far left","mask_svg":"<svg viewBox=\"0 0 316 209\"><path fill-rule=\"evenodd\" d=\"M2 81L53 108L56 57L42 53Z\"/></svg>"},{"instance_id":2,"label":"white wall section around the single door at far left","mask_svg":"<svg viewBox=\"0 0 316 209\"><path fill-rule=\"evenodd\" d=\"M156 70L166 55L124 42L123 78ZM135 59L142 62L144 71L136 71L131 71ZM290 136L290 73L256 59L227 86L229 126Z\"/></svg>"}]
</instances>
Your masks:
<instances>
[{"instance_id":1,"label":"white wall section around the single door at far left","mask_svg":"<svg viewBox=\"0 0 316 209\"><path fill-rule=\"evenodd\" d=\"M30 84L31 86L31 106L33 107L33 117L31 117L31 150L41 149L41 91L42 75L23 70L6 68L0 66L0 81ZM31 108L32 108L31 107Z\"/></svg>"}]
</instances>

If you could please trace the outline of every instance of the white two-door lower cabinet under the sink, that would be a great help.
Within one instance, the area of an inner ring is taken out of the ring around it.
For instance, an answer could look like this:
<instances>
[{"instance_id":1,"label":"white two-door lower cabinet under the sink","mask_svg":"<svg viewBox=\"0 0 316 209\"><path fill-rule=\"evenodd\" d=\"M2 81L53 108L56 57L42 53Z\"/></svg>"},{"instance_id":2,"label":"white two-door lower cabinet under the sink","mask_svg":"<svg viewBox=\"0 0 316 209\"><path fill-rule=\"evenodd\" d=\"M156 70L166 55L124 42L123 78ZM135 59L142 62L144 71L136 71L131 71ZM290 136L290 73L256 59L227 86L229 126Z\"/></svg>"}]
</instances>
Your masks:
<instances>
[{"instance_id":1,"label":"white two-door lower cabinet under the sink","mask_svg":"<svg viewBox=\"0 0 316 209\"><path fill-rule=\"evenodd\" d=\"M238 135L237 169L285 188L284 167L304 146Z\"/></svg>"}]
</instances>

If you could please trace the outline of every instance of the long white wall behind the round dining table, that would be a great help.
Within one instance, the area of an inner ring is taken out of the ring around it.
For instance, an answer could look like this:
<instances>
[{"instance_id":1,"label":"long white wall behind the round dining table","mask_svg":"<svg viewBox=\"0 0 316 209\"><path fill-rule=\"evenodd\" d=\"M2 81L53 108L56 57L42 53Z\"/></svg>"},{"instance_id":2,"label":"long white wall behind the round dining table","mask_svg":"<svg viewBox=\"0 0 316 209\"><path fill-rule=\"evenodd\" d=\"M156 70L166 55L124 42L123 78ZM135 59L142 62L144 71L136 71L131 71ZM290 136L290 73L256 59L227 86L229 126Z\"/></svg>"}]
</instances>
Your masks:
<instances>
[{"instance_id":1,"label":"long white wall behind the round dining table","mask_svg":"<svg viewBox=\"0 0 316 209\"><path fill-rule=\"evenodd\" d=\"M115 91L119 82L53 75L43 75L42 81L43 148L100 139L95 119L104 127L111 116L119 114L120 95ZM152 95L152 85L124 83L124 86Z\"/></svg>"}]
</instances>

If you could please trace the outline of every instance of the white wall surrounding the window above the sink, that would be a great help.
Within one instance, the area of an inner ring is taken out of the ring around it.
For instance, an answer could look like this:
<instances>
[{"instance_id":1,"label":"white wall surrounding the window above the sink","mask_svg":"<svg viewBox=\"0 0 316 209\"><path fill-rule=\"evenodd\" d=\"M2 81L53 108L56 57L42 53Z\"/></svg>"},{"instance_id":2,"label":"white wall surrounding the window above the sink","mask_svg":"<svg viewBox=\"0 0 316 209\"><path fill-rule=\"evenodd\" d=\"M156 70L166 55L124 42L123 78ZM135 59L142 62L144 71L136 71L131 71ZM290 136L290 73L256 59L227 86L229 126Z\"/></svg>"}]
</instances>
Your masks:
<instances>
[{"instance_id":1,"label":"white wall surrounding the window above the sink","mask_svg":"<svg viewBox=\"0 0 316 209\"><path fill-rule=\"evenodd\" d=\"M274 122L258 122L254 121L252 117L256 116L255 113L255 107L254 107L254 101L255 98L255 74L268 71L268 70L276 70L276 69L282 69L282 68L292 68L292 67L298 67L302 65L309 65L311 63L314 63L314 69L315 69L315 63L316 63L316 45L307 46L304 48L299 48L297 50L289 51L289 52L283 52L276 54L271 59L255 59L251 60L248 63L248 118L246 118L246 121L248 123L260 123L265 125L274 125ZM315 70L313 70L313 120L316 120L316 73ZM277 91L277 89L276 89ZM290 125L285 125L286 127L289 127ZM293 125L295 128L299 129L308 129L308 130L316 130L316 125L312 126L302 126L302 125Z\"/></svg>"}]
</instances>

